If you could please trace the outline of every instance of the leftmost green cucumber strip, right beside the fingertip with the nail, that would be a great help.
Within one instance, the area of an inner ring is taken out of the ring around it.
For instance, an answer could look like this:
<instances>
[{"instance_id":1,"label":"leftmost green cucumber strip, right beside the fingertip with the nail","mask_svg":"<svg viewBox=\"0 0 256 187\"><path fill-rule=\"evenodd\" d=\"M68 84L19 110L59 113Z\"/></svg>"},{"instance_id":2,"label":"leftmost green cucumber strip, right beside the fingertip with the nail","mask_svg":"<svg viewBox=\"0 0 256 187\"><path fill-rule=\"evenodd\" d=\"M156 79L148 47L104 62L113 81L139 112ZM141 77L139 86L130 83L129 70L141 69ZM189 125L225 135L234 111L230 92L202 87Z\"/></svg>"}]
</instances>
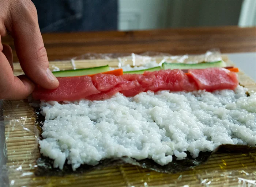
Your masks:
<instances>
[{"instance_id":1,"label":"leftmost green cucumber strip, right beside the fingertip with the nail","mask_svg":"<svg viewBox=\"0 0 256 187\"><path fill-rule=\"evenodd\" d=\"M102 73L109 70L110 70L109 66L106 65L106 66L90 67L90 68L76 69L76 70L53 71L52 73L55 77L73 77L73 76Z\"/></svg>"}]
</instances>

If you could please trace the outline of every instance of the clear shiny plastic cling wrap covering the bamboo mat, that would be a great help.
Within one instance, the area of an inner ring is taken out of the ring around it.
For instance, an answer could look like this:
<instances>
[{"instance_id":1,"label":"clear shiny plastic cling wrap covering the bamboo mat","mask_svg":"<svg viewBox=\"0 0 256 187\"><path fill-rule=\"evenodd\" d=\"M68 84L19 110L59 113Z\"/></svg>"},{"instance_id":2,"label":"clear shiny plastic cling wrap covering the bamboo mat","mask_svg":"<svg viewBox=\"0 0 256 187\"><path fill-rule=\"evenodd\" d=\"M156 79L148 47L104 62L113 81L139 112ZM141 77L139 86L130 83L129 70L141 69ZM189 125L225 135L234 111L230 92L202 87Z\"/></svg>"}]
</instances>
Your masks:
<instances>
[{"instance_id":1,"label":"clear shiny plastic cling wrap covering the bamboo mat","mask_svg":"<svg viewBox=\"0 0 256 187\"><path fill-rule=\"evenodd\" d=\"M148 67L169 63L196 63L223 60L230 65L228 59L221 56L218 50L211 50L203 55L159 54L85 54L66 61L50 62L50 68L56 70L79 69L86 67L109 65L112 68L137 66ZM18 63L14 64L15 75L22 74ZM242 73L240 83L250 91L255 91L255 82ZM108 165L101 170L90 172L68 173L65 176L49 174L36 175L37 159L41 157L38 149L40 128L35 126L38 112L23 101L2 101L0 143L3 155L0 157L0 186L256 186L256 151L253 148L225 147L210 156L208 161L193 169L165 174L131 164ZM4 133L3 133L4 131ZM4 140L4 143L3 143ZM230 152L227 152L227 149ZM49 166L50 167L50 166ZM175 168L175 166L174 166ZM48 168L49 169L49 168ZM54 169L55 171L57 169ZM44 172L44 170L43 170ZM47 173L46 173L47 172ZM58 172L58 171L56 171Z\"/></svg>"}]
</instances>

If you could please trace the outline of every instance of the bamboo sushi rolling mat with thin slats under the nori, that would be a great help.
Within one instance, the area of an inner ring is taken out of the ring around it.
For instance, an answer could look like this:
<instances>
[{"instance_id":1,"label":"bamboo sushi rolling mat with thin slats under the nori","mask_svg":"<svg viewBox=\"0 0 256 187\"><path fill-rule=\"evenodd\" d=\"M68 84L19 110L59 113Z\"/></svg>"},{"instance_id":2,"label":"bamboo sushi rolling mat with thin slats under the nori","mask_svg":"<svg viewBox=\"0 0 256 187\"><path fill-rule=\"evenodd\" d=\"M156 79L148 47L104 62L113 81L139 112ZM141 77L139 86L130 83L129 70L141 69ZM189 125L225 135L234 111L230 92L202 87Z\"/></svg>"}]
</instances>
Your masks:
<instances>
[{"instance_id":1,"label":"bamboo sushi rolling mat with thin slats under the nori","mask_svg":"<svg viewBox=\"0 0 256 187\"><path fill-rule=\"evenodd\" d=\"M227 65L232 65L222 56ZM93 62L93 63L92 63ZM98 59L75 61L76 68L91 66L117 66L117 59ZM50 68L72 69L70 61L50 62ZM22 74L18 63L14 64L15 75ZM242 72L239 81L249 91L255 90L255 82ZM133 165L108 167L87 174L67 175L64 177L38 177L34 175L36 159L39 157L37 137L34 126L34 111L26 100L5 101L4 116L15 116L5 125L7 148L7 167L10 186L50 186L50 187L128 187L128 186L254 186L256 183L256 152L218 153L207 163L193 170L162 174ZM9 120L9 119L8 119Z\"/></svg>"}]
</instances>

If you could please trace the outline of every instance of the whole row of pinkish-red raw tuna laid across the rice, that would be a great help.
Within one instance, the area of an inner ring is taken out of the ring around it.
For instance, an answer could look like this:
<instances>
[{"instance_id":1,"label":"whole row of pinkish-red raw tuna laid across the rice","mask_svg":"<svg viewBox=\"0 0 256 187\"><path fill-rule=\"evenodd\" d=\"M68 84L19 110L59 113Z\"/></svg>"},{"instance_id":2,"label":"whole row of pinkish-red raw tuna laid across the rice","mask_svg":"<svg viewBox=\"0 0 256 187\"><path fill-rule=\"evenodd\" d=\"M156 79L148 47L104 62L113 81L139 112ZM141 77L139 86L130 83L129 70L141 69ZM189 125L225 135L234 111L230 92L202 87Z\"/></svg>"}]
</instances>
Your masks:
<instances>
[{"instance_id":1,"label":"whole row of pinkish-red raw tuna laid across the rice","mask_svg":"<svg viewBox=\"0 0 256 187\"><path fill-rule=\"evenodd\" d=\"M60 86L54 90L37 87L32 96L35 100L74 101L80 99L104 100L117 92L132 97L143 91L207 91L231 89L238 85L237 75L224 68L200 70L160 70L139 74L96 74L92 78L61 77Z\"/></svg>"}]
</instances>

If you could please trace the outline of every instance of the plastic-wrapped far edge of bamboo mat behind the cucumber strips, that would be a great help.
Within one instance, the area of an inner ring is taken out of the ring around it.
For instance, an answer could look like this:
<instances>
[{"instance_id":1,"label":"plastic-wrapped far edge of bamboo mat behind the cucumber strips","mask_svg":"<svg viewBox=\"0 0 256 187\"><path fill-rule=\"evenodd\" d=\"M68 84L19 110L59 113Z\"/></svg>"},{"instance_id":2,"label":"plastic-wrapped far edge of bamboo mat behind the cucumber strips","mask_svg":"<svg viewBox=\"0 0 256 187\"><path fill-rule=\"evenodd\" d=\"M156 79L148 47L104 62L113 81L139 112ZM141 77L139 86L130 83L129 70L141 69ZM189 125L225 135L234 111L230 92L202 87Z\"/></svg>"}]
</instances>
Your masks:
<instances>
[{"instance_id":1,"label":"plastic-wrapped far edge of bamboo mat behind the cucumber strips","mask_svg":"<svg viewBox=\"0 0 256 187\"><path fill-rule=\"evenodd\" d=\"M143 54L95 54L87 53L79 57L63 61L50 62L51 71L80 69L95 66L109 65L113 69L134 68L134 70L144 67L144 69L154 66L160 66L163 62L167 63L199 63L214 62L222 60L221 53L217 49L207 51L202 55L180 55L172 56L159 52L145 52ZM19 63L14 63L14 74L16 76L23 74Z\"/></svg>"}]
</instances>

